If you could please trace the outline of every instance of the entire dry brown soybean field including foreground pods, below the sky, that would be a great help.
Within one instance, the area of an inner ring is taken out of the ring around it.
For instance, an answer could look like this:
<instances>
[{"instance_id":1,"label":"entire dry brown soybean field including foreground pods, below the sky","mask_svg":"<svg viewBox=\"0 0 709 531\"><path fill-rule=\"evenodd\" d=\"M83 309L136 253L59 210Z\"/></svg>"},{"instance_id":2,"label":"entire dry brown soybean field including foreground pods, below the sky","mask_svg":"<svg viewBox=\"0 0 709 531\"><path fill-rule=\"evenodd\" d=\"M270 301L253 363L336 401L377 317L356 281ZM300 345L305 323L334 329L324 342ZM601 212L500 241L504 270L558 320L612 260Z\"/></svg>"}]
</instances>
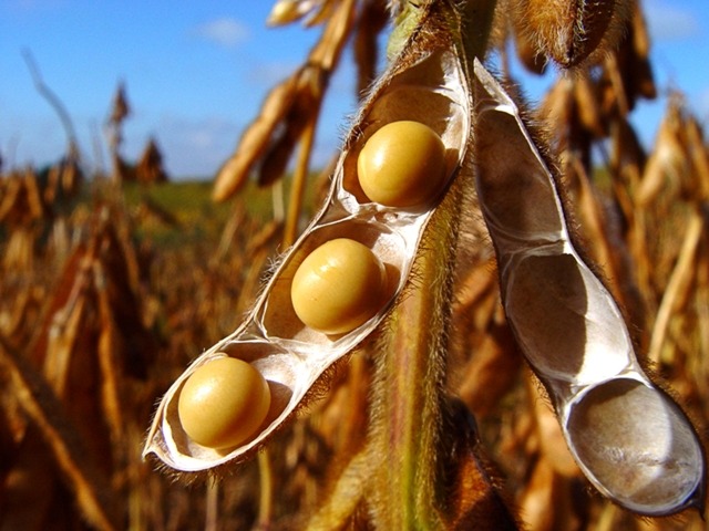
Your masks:
<instances>
[{"instance_id":1,"label":"entire dry brown soybean field including foreground pods, below the sky","mask_svg":"<svg viewBox=\"0 0 709 531\"><path fill-rule=\"evenodd\" d=\"M121 85L110 170L0 162L0 531L709 529L709 147L681 87L639 139L643 3L304 21L208 180L125 159Z\"/></svg>"}]
</instances>

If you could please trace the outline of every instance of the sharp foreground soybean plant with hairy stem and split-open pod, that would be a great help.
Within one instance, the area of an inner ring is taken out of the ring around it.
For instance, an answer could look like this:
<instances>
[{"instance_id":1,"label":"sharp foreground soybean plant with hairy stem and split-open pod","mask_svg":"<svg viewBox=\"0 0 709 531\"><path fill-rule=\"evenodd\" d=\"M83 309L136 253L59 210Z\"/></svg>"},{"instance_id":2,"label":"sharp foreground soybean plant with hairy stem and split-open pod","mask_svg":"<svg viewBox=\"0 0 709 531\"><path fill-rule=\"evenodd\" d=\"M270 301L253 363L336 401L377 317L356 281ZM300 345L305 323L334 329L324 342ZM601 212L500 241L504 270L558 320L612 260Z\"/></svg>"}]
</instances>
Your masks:
<instances>
[{"instance_id":1,"label":"sharp foreground soybean plant with hairy stem and split-open pod","mask_svg":"<svg viewBox=\"0 0 709 531\"><path fill-rule=\"evenodd\" d=\"M561 67L602 55L630 11L623 1L513 3L526 41ZM284 0L274 15L299 6ZM183 473L244 462L364 347L374 361L367 442L310 529L346 527L362 507L382 530L515 529L479 457L474 419L449 392L461 223L479 204L507 322L590 483L639 514L703 507L699 437L648 376L584 254L544 134L484 66L494 10L485 0L403 4L389 65L361 103L320 211L243 324L169 388L144 455ZM244 384L203 383L228 360L249 367L234 376ZM201 394L207 412L196 419Z\"/></svg>"}]
</instances>

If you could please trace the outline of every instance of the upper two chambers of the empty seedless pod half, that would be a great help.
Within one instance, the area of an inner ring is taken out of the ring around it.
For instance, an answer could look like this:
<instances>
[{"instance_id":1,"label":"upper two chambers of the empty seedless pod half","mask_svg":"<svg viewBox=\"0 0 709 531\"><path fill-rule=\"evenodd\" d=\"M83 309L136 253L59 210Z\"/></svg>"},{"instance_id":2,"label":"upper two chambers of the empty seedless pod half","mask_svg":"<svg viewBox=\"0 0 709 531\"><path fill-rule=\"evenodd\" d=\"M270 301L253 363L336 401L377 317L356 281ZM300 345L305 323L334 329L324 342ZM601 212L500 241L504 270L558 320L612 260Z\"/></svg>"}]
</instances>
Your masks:
<instances>
[{"instance_id":1,"label":"upper two chambers of the empty seedless pod half","mask_svg":"<svg viewBox=\"0 0 709 531\"><path fill-rule=\"evenodd\" d=\"M476 188L503 304L530 364L564 400L633 368L613 296L572 244L554 179L514 102L476 64Z\"/></svg>"}]
</instances>

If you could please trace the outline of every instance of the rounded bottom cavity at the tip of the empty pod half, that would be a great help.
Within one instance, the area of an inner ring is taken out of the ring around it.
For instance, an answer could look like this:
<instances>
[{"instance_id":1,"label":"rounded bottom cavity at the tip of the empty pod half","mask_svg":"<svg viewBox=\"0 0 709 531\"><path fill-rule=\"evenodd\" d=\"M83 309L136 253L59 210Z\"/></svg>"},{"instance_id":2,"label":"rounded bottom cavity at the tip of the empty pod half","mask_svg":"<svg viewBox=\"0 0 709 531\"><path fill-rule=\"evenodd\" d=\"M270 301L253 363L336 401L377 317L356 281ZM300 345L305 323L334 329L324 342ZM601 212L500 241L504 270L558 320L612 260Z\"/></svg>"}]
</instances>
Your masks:
<instances>
[{"instance_id":1,"label":"rounded bottom cavity at the tip of the empty pod half","mask_svg":"<svg viewBox=\"0 0 709 531\"><path fill-rule=\"evenodd\" d=\"M617 378L572 408L568 439L596 487L628 509L665 514L693 501L703 468L682 410L659 389Z\"/></svg>"}]
</instances>

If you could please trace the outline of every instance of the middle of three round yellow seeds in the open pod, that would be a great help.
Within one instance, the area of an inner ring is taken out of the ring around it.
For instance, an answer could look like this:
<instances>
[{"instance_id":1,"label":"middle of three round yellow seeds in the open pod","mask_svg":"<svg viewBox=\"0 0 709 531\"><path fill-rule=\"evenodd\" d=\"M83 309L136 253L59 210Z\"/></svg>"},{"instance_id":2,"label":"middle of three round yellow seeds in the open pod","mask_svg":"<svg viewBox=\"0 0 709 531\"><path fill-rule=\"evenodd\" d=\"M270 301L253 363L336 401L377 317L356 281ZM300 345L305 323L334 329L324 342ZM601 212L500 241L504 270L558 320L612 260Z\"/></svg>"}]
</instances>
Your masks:
<instances>
[{"instance_id":1,"label":"middle of three round yellow seeds in the open pod","mask_svg":"<svg viewBox=\"0 0 709 531\"><path fill-rule=\"evenodd\" d=\"M381 308L387 270L374 253L348 238L330 240L302 261L292 279L290 298L307 326L343 334Z\"/></svg>"}]
</instances>

